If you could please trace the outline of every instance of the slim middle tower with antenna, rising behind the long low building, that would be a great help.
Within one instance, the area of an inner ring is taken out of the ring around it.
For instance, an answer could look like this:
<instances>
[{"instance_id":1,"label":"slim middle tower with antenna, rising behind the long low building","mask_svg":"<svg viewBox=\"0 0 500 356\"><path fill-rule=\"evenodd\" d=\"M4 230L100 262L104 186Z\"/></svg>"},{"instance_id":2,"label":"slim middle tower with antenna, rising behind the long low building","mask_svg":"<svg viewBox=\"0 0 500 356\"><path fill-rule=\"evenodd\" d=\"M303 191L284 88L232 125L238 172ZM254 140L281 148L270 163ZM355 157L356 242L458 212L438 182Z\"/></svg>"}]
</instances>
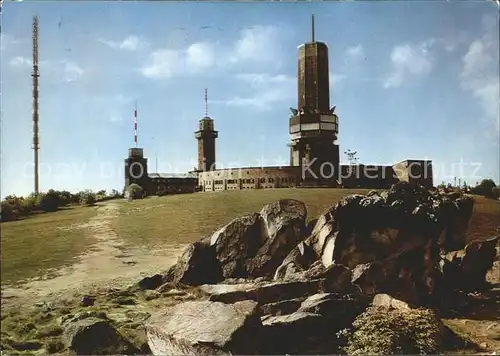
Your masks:
<instances>
[{"instance_id":1,"label":"slim middle tower with antenna, rising behind the long low building","mask_svg":"<svg viewBox=\"0 0 500 356\"><path fill-rule=\"evenodd\" d=\"M205 116L200 120L200 126L195 133L198 140L198 171L215 170L215 139L219 133L215 131L214 120L208 116L208 92L205 89Z\"/></svg>"}]
</instances>

